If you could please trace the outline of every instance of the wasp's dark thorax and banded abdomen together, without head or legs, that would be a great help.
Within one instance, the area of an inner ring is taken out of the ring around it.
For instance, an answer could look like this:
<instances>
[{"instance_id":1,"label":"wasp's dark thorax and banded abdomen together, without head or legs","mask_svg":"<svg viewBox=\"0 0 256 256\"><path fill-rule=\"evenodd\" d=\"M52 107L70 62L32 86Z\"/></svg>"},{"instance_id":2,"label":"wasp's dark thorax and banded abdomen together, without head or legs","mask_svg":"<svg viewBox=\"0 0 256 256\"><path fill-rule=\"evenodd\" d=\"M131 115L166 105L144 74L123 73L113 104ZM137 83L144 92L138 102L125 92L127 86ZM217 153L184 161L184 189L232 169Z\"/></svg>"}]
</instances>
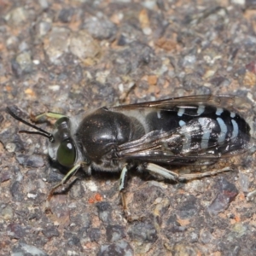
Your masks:
<instances>
[{"instance_id":1,"label":"wasp's dark thorax and banded abdomen together, without head or legs","mask_svg":"<svg viewBox=\"0 0 256 256\"><path fill-rule=\"evenodd\" d=\"M250 147L250 127L239 113L207 102L172 108L147 103L100 108L84 117L75 137L92 167L119 172L132 160L207 165Z\"/></svg>"}]
</instances>

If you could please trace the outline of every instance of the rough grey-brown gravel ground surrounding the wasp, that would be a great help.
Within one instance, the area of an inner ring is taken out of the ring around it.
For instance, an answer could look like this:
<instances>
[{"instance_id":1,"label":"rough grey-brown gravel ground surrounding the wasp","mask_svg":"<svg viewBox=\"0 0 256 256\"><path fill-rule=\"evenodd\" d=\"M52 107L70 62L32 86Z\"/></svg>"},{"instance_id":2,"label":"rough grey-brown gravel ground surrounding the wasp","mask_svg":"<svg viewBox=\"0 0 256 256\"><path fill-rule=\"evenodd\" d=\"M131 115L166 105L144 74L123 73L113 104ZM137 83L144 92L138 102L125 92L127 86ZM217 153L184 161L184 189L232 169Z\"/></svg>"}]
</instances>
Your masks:
<instances>
[{"instance_id":1,"label":"rough grey-brown gravel ground surrounding the wasp","mask_svg":"<svg viewBox=\"0 0 256 256\"><path fill-rule=\"evenodd\" d=\"M221 162L225 172L167 183L132 172L93 173L45 200L63 174L44 137L20 117L171 96L232 94L255 114L255 1L0 0L1 255L255 255L255 157ZM50 131L52 124L40 124ZM180 170L177 170L177 172Z\"/></svg>"}]
</instances>

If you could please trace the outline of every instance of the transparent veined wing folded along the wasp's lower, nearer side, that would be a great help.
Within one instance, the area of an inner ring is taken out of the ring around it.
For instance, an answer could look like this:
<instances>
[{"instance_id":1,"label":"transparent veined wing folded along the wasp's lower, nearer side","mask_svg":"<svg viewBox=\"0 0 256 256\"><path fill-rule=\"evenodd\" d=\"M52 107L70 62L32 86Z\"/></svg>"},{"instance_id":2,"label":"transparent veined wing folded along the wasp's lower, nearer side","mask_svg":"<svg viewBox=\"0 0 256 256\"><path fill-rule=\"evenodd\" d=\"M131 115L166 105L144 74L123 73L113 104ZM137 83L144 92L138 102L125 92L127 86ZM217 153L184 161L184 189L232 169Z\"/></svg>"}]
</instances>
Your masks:
<instances>
[{"instance_id":1,"label":"transparent veined wing folded along the wasp's lower, nearer side","mask_svg":"<svg viewBox=\"0 0 256 256\"><path fill-rule=\"evenodd\" d=\"M186 129L188 131L186 131ZM194 134L194 147L191 147L189 137ZM201 137L199 127L187 126L185 129L177 128L175 131L151 131L138 140L119 145L119 159L143 160L170 165L211 165L221 158L227 158L236 154L243 154L255 145L253 138L248 141L246 147L236 148L236 137L225 139L218 143L216 134L209 143ZM206 143L207 148L198 145ZM221 149L222 148L222 149ZM224 148L232 148L222 152Z\"/></svg>"}]
</instances>

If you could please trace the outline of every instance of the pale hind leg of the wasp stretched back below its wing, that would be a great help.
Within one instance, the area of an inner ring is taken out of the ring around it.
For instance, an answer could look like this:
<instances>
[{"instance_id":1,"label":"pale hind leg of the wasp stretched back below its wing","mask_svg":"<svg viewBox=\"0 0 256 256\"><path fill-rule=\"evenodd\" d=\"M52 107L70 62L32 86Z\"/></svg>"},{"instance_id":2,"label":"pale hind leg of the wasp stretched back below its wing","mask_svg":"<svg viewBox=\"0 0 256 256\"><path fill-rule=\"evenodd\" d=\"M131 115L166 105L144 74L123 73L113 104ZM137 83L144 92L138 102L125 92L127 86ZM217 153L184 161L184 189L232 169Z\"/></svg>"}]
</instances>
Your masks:
<instances>
[{"instance_id":1,"label":"pale hind leg of the wasp stretched back below its wing","mask_svg":"<svg viewBox=\"0 0 256 256\"><path fill-rule=\"evenodd\" d=\"M209 172L201 172L201 173L192 173L192 174L177 174L176 172L172 172L170 170L167 170L164 167L157 166L155 164L149 163L146 169L149 172L154 172L157 174L160 174L162 177L166 177L167 179L171 179L173 181L179 182L179 181L185 181L189 179L195 179L195 178L201 178L201 177L207 177L207 176L213 176L220 172L229 172L232 171L230 167L225 167L220 170L213 170Z\"/></svg>"}]
</instances>

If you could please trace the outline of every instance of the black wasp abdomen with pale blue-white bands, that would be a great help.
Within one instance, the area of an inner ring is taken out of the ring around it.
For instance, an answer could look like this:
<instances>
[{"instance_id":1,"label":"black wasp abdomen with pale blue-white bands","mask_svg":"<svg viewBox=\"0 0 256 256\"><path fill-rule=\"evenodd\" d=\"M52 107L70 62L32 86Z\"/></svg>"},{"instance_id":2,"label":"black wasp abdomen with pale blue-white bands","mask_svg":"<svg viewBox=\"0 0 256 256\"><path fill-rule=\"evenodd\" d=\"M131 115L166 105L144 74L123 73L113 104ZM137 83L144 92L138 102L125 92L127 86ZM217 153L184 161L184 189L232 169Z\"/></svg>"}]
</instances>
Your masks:
<instances>
[{"instance_id":1,"label":"black wasp abdomen with pale blue-white bands","mask_svg":"<svg viewBox=\"0 0 256 256\"><path fill-rule=\"evenodd\" d=\"M212 154L224 154L246 148L250 127L238 113L224 108L198 105L176 107L148 113L149 131L177 131L186 137L179 153L211 148Z\"/></svg>"}]
</instances>

